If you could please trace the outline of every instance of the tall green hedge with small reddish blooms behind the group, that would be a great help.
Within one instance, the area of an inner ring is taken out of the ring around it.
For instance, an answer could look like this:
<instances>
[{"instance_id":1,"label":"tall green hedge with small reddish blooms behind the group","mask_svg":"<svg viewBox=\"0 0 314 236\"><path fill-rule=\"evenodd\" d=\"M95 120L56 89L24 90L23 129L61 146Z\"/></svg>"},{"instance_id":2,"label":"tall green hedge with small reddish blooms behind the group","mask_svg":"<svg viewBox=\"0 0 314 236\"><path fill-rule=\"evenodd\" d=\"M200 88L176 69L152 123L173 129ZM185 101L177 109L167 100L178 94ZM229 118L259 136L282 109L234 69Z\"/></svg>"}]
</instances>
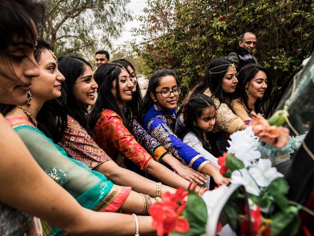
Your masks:
<instances>
[{"instance_id":1,"label":"tall green hedge with small reddish blooms behind the group","mask_svg":"<svg viewBox=\"0 0 314 236\"><path fill-rule=\"evenodd\" d=\"M275 89L313 50L314 3L309 0L148 0L144 41L134 49L147 65L177 72L183 95L211 59L227 55L245 31L256 33L254 55L275 76ZM181 96L183 97L183 96Z\"/></svg>"}]
</instances>

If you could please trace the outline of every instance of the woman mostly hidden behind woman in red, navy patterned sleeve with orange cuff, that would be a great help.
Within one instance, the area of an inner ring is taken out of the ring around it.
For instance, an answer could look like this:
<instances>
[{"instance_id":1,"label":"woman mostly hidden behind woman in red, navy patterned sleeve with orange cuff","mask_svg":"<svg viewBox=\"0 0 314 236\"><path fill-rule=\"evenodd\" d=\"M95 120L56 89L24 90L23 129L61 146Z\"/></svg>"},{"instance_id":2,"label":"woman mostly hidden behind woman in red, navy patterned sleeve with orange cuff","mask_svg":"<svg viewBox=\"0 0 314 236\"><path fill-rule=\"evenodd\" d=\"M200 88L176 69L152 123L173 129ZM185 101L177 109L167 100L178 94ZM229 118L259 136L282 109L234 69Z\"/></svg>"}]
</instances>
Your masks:
<instances>
[{"instance_id":1,"label":"woman mostly hidden behind woman in red, navy patterned sleeve with orange cuff","mask_svg":"<svg viewBox=\"0 0 314 236\"><path fill-rule=\"evenodd\" d=\"M207 177L193 170L186 165L183 165L177 158L172 156L169 151L162 147L159 142L149 135L147 131L138 122L138 111L142 105L142 95L137 83L135 69L130 61L126 59L114 60L112 63L120 63L130 71L131 79L134 84L132 90L132 99L128 102L128 106L123 109L124 115L130 124L130 132L136 139L136 141L145 148L152 157L161 164L169 165L178 175L191 181L195 181L198 184L204 184L207 182Z\"/></svg>"}]
</instances>

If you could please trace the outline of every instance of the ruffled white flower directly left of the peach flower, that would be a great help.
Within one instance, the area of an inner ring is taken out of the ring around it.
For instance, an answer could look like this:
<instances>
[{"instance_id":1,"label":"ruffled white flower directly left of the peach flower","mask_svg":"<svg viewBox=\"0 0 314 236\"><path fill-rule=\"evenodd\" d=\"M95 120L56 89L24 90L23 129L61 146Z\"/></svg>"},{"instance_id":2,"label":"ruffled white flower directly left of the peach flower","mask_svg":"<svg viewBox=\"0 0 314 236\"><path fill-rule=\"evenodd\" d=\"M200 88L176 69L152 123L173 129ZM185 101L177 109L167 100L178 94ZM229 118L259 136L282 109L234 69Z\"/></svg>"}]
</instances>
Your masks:
<instances>
[{"instance_id":1,"label":"ruffled white flower directly left of the peach flower","mask_svg":"<svg viewBox=\"0 0 314 236\"><path fill-rule=\"evenodd\" d=\"M228 152L234 153L237 159L243 161L245 167L261 157L261 152L257 150L259 138L255 136L251 126L233 133L230 139Z\"/></svg>"}]
</instances>

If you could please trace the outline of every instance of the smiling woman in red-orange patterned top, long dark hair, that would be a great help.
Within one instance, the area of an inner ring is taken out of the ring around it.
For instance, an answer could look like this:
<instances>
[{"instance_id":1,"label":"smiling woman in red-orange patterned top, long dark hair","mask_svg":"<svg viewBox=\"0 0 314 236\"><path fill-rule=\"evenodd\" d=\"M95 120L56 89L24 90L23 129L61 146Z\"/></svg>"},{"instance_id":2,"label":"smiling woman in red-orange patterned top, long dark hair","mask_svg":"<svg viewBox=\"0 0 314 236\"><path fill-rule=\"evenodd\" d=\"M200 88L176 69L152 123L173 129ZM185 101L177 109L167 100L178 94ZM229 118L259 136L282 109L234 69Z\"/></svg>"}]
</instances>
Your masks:
<instances>
[{"instance_id":1,"label":"smiling woman in red-orange patterned top, long dark hair","mask_svg":"<svg viewBox=\"0 0 314 236\"><path fill-rule=\"evenodd\" d=\"M123 109L132 99L134 84L131 73L120 63L101 65L94 78L99 85L98 98L90 113L89 127L96 143L119 165L128 167L131 161L168 186L187 189L189 181L178 176L152 156L131 135L130 123ZM164 187L161 187L161 191ZM199 188L196 189L198 191Z\"/></svg>"}]
</instances>

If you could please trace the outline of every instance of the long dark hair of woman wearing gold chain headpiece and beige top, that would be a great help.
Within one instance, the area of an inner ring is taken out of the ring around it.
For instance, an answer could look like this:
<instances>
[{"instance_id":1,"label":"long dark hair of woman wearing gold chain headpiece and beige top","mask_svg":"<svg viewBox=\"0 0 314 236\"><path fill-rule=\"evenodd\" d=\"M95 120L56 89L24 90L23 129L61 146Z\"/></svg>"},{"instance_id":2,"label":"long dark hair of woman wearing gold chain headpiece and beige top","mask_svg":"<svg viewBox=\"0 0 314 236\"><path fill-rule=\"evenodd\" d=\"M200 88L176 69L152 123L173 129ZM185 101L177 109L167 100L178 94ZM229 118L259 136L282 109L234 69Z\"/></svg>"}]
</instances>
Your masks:
<instances>
[{"instance_id":1,"label":"long dark hair of woman wearing gold chain headpiece and beige top","mask_svg":"<svg viewBox=\"0 0 314 236\"><path fill-rule=\"evenodd\" d=\"M222 89L223 78L232 63L231 60L225 58L213 59L210 62L202 81L192 89L190 97L203 93L209 88L212 97L218 98L220 103L226 103L228 107L232 109L232 94L226 93Z\"/></svg>"}]
</instances>

